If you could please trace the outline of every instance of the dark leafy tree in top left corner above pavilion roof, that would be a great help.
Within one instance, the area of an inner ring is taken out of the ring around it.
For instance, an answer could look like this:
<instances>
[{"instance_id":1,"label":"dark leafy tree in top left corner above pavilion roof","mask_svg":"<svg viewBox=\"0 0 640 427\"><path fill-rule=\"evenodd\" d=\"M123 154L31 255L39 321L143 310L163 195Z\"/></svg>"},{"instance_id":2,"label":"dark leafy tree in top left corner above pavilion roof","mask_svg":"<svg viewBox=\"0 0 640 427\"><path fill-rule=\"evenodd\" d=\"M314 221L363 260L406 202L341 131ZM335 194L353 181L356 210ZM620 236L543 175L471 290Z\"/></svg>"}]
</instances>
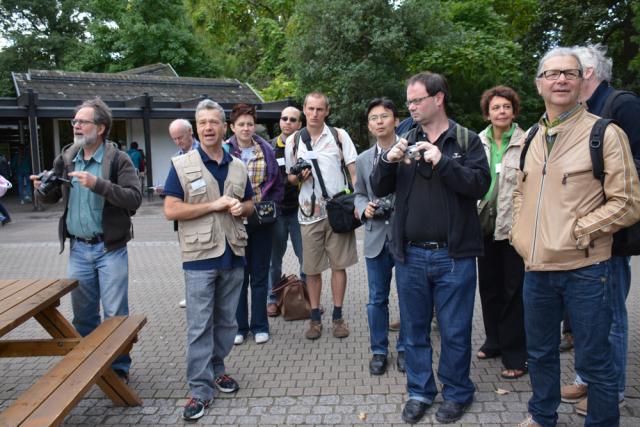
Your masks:
<instances>
[{"instance_id":1,"label":"dark leafy tree in top left corner above pavilion roof","mask_svg":"<svg viewBox=\"0 0 640 427\"><path fill-rule=\"evenodd\" d=\"M2 0L0 94L15 95L11 72L65 69L85 40L87 15L79 0Z\"/></svg>"}]
</instances>

